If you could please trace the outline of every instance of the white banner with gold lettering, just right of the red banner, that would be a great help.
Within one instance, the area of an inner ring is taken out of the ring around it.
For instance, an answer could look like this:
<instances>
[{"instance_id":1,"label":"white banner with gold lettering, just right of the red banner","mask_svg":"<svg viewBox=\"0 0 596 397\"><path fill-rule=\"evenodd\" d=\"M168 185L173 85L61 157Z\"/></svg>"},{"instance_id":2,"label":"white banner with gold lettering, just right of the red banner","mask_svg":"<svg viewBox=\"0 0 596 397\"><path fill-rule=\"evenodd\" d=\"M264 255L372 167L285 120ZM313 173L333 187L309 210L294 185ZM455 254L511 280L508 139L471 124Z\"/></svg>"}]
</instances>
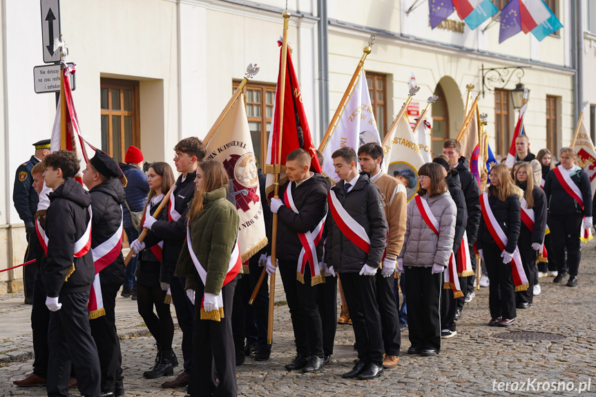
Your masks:
<instances>
[{"instance_id":1,"label":"white banner with gold lettering, just right of the red banner","mask_svg":"<svg viewBox=\"0 0 596 397\"><path fill-rule=\"evenodd\" d=\"M337 127L333 134L329 136L327 146L323 150L323 158L325 158L325 161L323 161L323 172L336 182L339 182L331 154L340 147L346 146L354 148L357 152L359 147L368 142L375 142L381 145L376 120L372 113L366 75L363 70L358 76L358 82L345 105L343 113L340 115Z\"/></svg>"}]
</instances>

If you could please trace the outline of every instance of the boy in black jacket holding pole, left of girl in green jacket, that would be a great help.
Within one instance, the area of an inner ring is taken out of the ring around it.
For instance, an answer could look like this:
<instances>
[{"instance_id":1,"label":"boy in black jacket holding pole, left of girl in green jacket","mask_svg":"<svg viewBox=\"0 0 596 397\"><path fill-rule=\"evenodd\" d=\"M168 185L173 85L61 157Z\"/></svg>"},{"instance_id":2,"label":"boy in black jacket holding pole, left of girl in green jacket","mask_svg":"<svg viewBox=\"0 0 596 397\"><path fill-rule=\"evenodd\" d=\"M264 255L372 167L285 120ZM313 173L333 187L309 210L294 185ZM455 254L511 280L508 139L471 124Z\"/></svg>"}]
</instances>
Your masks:
<instances>
[{"instance_id":1,"label":"boy in black jacket holding pole, left of girl in green jacket","mask_svg":"<svg viewBox=\"0 0 596 397\"><path fill-rule=\"evenodd\" d=\"M178 324L182 330L182 356L184 357L184 372L174 380L162 383L162 387L182 387L189 384L189 374L193 366L193 324L195 308L184 292L186 277L175 277L174 270L178 256L182 251L186 239L186 212L188 204L195 194L195 177L197 167L206 154L203 142L194 136L184 138L174 147L176 152L174 164L177 172L182 173L176 180L175 189L170 196L168 221L157 220L153 216L146 216L144 228L153 233L147 234L144 241L148 247L164 241L162 249L162 264L168 267L172 293L172 302L176 309ZM135 240L137 241L137 240ZM133 243L135 243L133 241ZM142 243L140 248L144 248Z\"/></svg>"}]
</instances>

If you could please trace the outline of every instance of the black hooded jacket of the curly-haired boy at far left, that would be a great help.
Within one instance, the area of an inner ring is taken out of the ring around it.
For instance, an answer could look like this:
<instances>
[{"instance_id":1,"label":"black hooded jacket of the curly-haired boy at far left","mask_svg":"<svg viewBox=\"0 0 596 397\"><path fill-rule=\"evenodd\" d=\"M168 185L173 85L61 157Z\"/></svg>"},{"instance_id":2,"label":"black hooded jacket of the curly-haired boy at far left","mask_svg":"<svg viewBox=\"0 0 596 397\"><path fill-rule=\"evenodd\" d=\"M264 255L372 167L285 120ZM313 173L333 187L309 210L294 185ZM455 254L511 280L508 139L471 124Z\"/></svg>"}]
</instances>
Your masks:
<instances>
[{"instance_id":1,"label":"black hooded jacket of the curly-haired boy at far left","mask_svg":"<svg viewBox=\"0 0 596 397\"><path fill-rule=\"evenodd\" d=\"M91 195L73 178L50 193L50 207L46 213L48 257L45 285L48 297L60 293L81 293L91 288L95 266L91 250L75 258L75 241L84 234L89 221ZM71 266L75 271L70 273ZM66 277L68 275L68 277Z\"/></svg>"}]
</instances>

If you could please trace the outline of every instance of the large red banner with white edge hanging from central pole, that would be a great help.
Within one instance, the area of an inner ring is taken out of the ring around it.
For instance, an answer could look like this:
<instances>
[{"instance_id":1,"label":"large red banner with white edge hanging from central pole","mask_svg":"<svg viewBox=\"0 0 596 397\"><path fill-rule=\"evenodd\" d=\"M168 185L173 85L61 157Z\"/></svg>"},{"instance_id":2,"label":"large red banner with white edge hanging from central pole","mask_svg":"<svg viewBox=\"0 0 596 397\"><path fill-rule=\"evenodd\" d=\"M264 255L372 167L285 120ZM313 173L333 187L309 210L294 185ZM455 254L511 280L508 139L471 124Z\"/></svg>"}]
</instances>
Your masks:
<instances>
[{"instance_id":1,"label":"large red banner with white edge hanging from central pole","mask_svg":"<svg viewBox=\"0 0 596 397\"><path fill-rule=\"evenodd\" d=\"M281 38L278 40L278 45L282 46ZM294 71L294 63L291 59L291 48L287 47L287 63L286 63L286 78L285 78L285 92L280 93L280 77L281 77L281 49L280 49L280 73L278 73L278 83L276 89L276 102L273 109L273 122L271 123L271 131L269 133L269 141L267 143L267 164L265 165L265 172L267 173L267 193L273 190L273 181L275 173L275 166L281 165L280 184L287 178L285 176L285 163L287 155L294 149L305 149L311 156L311 170L314 172L321 172L320 164L318 163L318 156L316 154L316 147L312 141L308 121L304 105L302 104L302 95L300 87L298 86L298 79ZM282 141L280 142L280 95L284 95L284 116L283 116L283 133ZM281 158L278 158L279 145L281 145Z\"/></svg>"}]
</instances>

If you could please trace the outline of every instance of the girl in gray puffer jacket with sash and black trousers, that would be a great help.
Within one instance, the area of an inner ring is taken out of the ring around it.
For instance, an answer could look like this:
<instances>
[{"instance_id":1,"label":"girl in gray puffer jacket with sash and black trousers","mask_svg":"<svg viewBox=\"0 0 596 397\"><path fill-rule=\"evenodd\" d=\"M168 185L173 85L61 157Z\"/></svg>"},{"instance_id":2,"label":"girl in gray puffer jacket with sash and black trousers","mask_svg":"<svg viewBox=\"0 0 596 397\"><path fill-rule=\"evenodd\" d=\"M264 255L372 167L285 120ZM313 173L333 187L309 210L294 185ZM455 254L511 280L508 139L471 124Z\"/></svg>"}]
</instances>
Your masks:
<instances>
[{"instance_id":1,"label":"girl in gray puffer jacket with sash and black trousers","mask_svg":"<svg viewBox=\"0 0 596 397\"><path fill-rule=\"evenodd\" d=\"M405 240L398 265L403 266L407 279L405 300L412 344L407 353L436 356L441 349L442 273L453 248L457 209L441 165L427 163L420 167L419 180L419 197L407 205ZM424 207L432 216L421 211Z\"/></svg>"}]
</instances>

